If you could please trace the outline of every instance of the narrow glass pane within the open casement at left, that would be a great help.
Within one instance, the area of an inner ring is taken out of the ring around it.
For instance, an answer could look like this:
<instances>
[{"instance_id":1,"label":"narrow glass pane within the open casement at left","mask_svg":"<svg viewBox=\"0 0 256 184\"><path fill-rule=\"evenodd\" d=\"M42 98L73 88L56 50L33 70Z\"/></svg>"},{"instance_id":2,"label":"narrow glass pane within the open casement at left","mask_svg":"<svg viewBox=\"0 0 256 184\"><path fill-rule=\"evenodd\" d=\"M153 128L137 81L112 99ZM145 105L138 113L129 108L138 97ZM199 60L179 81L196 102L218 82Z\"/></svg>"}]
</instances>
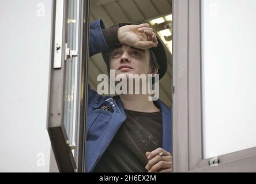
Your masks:
<instances>
[{"instance_id":1,"label":"narrow glass pane within the open casement at left","mask_svg":"<svg viewBox=\"0 0 256 184\"><path fill-rule=\"evenodd\" d=\"M67 48L77 49L77 0L69 1L67 20ZM66 84L65 84L65 114L64 126L69 138L69 144L76 145L76 81L77 81L77 57L66 60Z\"/></svg>"}]
</instances>

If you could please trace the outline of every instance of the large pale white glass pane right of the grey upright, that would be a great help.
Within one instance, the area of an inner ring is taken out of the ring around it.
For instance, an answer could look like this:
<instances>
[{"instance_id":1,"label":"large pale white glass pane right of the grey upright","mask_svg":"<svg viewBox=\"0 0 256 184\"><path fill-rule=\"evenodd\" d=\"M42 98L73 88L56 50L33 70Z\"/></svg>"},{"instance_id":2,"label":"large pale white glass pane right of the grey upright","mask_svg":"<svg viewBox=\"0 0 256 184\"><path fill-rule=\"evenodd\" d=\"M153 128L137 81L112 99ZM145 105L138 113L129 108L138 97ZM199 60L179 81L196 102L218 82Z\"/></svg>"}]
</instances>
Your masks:
<instances>
[{"instance_id":1,"label":"large pale white glass pane right of the grey upright","mask_svg":"<svg viewBox=\"0 0 256 184\"><path fill-rule=\"evenodd\" d=\"M256 1L202 0L204 157L256 146Z\"/></svg>"}]
</instances>

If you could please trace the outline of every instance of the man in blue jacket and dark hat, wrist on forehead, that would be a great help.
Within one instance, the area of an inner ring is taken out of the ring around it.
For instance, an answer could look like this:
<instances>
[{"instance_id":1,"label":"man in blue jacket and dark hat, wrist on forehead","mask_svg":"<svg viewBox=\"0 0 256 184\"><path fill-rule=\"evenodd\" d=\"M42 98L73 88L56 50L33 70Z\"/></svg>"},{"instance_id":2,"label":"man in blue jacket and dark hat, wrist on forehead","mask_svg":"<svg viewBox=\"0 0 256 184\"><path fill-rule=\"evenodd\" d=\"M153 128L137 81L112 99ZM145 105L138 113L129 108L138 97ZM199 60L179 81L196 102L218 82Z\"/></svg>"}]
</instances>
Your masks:
<instances>
[{"instance_id":1,"label":"man in blue jacket and dark hat, wrist on forehead","mask_svg":"<svg viewBox=\"0 0 256 184\"><path fill-rule=\"evenodd\" d=\"M102 29L102 30L101 30ZM150 49L151 48L151 49ZM163 44L148 24L91 25L90 55L115 74L166 72ZM171 110L149 94L102 97L89 86L86 172L171 172Z\"/></svg>"}]
</instances>

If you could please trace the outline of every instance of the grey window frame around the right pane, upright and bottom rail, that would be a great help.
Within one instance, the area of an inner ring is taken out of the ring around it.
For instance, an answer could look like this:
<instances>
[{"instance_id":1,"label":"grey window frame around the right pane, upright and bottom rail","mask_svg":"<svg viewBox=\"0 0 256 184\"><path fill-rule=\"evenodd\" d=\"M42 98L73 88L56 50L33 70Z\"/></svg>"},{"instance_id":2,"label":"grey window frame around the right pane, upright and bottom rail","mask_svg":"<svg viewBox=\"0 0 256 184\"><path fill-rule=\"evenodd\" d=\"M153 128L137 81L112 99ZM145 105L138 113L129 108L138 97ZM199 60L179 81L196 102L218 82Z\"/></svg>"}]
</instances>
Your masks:
<instances>
[{"instance_id":1,"label":"grey window frame around the right pane, upright and bottom rail","mask_svg":"<svg viewBox=\"0 0 256 184\"><path fill-rule=\"evenodd\" d=\"M174 171L255 172L256 147L218 158L203 158L201 0L173 1ZM218 166L210 166L217 159Z\"/></svg>"}]
</instances>

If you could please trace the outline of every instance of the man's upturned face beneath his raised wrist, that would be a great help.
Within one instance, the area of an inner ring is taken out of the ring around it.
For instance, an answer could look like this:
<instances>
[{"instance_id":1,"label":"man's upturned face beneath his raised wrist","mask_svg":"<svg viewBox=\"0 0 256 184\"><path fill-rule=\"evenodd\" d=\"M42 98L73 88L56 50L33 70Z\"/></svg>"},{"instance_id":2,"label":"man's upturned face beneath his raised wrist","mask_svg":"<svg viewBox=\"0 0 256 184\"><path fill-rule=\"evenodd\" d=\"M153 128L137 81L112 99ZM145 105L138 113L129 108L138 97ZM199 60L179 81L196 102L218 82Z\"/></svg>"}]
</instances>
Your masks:
<instances>
[{"instance_id":1,"label":"man's upturned face beneath his raised wrist","mask_svg":"<svg viewBox=\"0 0 256 184\"><path fill-rule=\"evenodd\" d=\"M123 44L110 54L110 69L115 75L125 74L152 74L149 63L149 51L141 50Z\"/></svg>"}]
</instances>

